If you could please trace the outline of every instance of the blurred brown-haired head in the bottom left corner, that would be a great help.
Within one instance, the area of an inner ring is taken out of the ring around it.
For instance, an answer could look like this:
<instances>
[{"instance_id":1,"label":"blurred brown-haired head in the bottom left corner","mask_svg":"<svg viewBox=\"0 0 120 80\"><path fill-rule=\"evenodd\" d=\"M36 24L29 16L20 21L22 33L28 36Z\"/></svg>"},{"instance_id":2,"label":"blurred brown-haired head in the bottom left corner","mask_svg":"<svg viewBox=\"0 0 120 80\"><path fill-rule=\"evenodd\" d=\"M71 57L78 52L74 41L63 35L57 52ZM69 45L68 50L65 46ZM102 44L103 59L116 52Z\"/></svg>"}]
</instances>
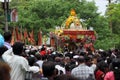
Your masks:
<instances>
[{"instance_id":1,"label":"blurred brown-haired head in the bottom left corner","mask_svg":"<svg viewBox=\"0 0 120 80\"><path fill-rule=\"evenodd\" d=\"M5 62L0 62L0 80L10 80L11 68Z\"/></svg>"}]
</instances>

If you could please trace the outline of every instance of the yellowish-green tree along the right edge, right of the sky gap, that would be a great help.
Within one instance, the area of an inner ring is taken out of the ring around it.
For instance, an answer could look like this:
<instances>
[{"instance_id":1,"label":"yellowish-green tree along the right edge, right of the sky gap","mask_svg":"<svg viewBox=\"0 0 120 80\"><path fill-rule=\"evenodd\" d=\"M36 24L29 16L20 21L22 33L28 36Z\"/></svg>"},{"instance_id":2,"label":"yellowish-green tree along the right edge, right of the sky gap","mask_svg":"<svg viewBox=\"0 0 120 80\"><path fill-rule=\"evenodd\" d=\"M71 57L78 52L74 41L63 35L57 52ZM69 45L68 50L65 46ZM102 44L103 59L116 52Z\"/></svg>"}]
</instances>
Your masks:
<instances>
[{"instance_id":1,"label":"yellowish-green tree along the right edge, right of the sky gap","mask_svg":"<svg viewBox=\"0 0 120 80\"><path fill-rule=\"evenodd\" d=\"M110 39L113 40L111 43L113 43L114 47L120 48L120 3L109 4L106 16L109 22L109 27L113 33Z\"/></svg>"}]
</instances>

